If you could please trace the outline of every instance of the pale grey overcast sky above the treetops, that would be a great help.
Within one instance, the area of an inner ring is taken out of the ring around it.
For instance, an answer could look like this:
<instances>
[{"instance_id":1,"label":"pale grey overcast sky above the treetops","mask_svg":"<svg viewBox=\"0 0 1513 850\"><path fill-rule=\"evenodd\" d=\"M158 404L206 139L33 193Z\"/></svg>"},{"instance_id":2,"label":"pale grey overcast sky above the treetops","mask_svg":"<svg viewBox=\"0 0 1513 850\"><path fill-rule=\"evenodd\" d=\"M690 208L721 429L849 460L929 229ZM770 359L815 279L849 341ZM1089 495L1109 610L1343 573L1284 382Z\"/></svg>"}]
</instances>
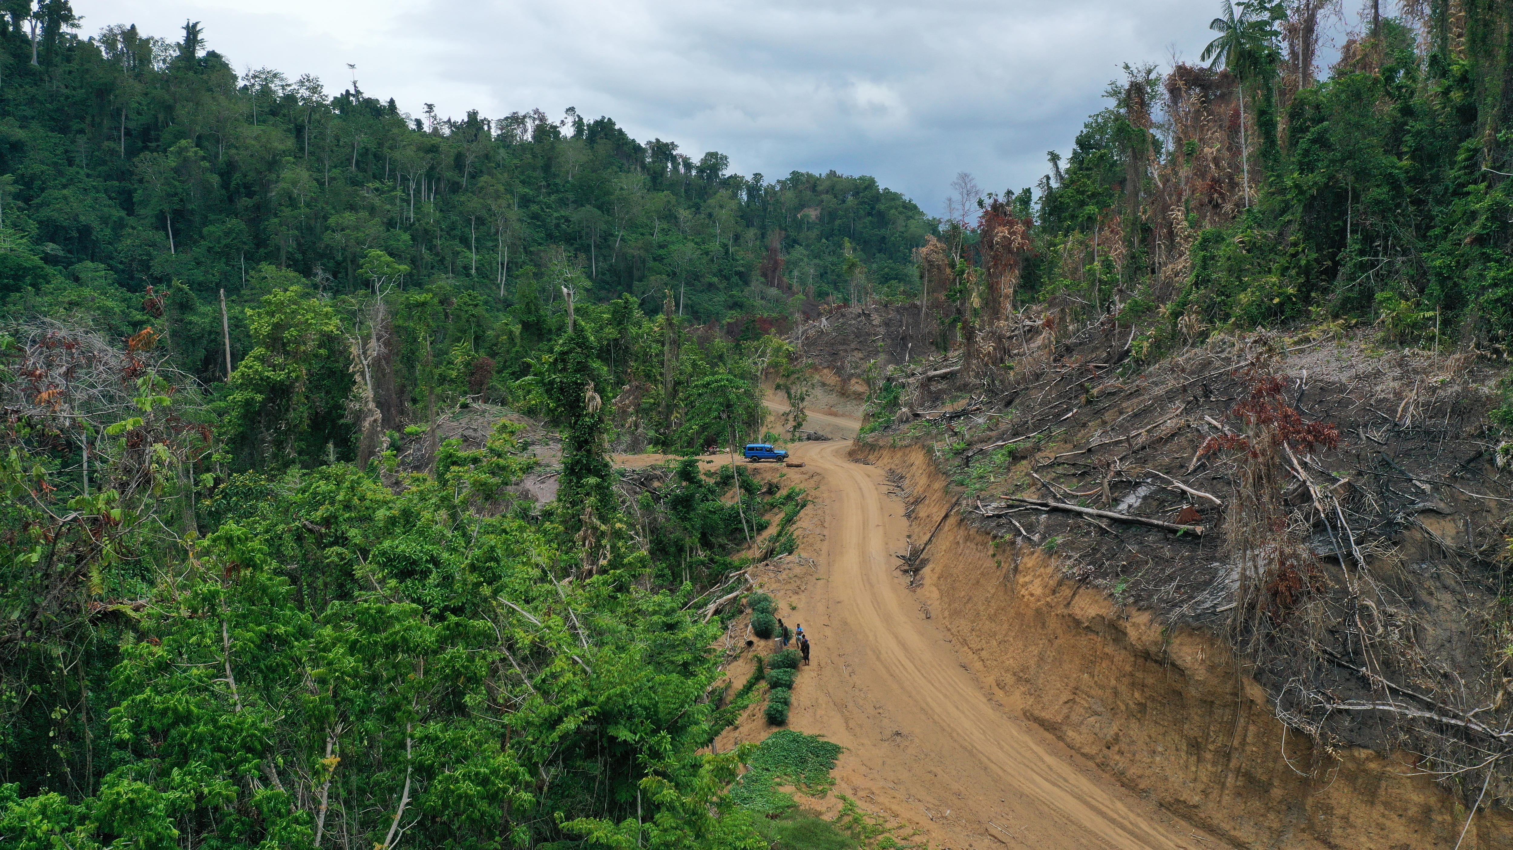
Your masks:
<instances>
[{"instance_id":1,"label":"pale grey overcast sky above the treetops","mask_svg":"<svg viewBox=\"0 0 1513 850\"><path fill-rule=\"evenodd\" d=\"M1020 189L1121 64L1195 60L1218 0L74 0L82 35L201 21L238 71L310 73L419 115L575 106L740 174L871 174L943 212Z\"/></svg>"}]
</instances>

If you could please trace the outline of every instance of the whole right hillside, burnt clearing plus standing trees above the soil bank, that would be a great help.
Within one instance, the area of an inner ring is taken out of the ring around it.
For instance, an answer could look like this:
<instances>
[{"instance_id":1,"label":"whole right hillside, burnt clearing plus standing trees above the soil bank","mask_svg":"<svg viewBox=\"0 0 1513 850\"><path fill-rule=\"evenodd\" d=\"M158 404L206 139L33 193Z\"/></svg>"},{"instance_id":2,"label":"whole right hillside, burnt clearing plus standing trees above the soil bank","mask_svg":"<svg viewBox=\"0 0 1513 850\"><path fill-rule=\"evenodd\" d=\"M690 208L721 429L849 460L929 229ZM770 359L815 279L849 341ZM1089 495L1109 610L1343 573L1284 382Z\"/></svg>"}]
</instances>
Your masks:
<instances>
[{"instance_id":1,"label":"whole right hillside, burnt clearing plus standing trees above the soil bank","mask_svg":"<svg viewBox=\"0 0 1513 850\"><path fill-rule=\"evenodd\" d=\"M924 446L1005 563L1047 555L1073 597L1226 647L1295 737L1289 770L1327 782L1362 747L1501 808L1513 30L1404 5L1321 77L1321 11L1226 6L1212 64L1130 68L1036 192L961 175L900 327L852 310L802 345L873 346L846 366L864 440ZM934 345L900 365L908 339ZM905 570L964 581L918 534ZM1080 711L1042 718L1068 741L1109 720Z\"/></svg>"}]
</instances>

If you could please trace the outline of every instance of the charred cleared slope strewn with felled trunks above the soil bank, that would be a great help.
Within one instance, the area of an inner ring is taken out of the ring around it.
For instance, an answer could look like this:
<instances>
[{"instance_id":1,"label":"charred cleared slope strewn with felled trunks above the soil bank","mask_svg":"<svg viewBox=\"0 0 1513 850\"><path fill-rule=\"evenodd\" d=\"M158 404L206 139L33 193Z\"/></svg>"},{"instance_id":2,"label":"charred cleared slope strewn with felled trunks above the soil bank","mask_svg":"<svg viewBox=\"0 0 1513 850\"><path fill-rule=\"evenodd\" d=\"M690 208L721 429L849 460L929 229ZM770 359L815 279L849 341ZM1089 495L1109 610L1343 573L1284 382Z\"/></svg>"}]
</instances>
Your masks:
<instances>
[{"instance_id":1,"label":"charred cleared slope strewn with felled trunks above the soil bank","mask_svg":"<svg viewBox=\"0 0 1513 850\"><path fill-rule=\"evenodd\" d=\"M1333 325L1139 365L1127 327L1026 327L1012 368L896 369L870 439L930 446L962 511L1068 579L1230 641L1318 752L1418 753L1471 796L1492 764L1513 797L1501 363Z\"/></svg>"}]
</instances>

